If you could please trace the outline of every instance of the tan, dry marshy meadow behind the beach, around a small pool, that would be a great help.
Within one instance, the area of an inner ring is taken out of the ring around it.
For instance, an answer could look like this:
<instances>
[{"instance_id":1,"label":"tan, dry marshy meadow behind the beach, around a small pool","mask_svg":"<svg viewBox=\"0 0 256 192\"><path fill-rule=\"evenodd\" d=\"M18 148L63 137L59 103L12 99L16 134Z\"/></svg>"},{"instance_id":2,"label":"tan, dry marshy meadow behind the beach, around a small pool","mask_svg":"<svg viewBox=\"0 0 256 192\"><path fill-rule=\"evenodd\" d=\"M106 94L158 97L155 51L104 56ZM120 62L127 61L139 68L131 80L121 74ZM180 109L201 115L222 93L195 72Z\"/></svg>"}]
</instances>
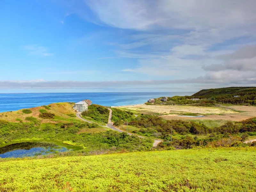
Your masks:
<instances>
[{"instance_id":1,"label":"tan, dry marshy meadow behind the beach, around a small pool","mask_svg":"<svg viewBox=\"0 0 256 192\"><path fill-rule=\"evenodd\" d=\"M248 118L256 116L255 106L241 106L241 105L230 105L224 104L221 106L193 106L193 105L130 105L116 107L122 110L131 111L134 114L143 113L150 115L157 115L166 120L180 119L180 120L195 120L204 121L210 120L215 125L222 125L227 120L230 121L242 121ZM204 115L204 117L183 117ZM210 122L209 121L209 122ZM207 122L207 121L206 121ZM208 122L208 123L209 123ZM214 126L214 125L210 125Z\"/></svg>"}]
</instances>

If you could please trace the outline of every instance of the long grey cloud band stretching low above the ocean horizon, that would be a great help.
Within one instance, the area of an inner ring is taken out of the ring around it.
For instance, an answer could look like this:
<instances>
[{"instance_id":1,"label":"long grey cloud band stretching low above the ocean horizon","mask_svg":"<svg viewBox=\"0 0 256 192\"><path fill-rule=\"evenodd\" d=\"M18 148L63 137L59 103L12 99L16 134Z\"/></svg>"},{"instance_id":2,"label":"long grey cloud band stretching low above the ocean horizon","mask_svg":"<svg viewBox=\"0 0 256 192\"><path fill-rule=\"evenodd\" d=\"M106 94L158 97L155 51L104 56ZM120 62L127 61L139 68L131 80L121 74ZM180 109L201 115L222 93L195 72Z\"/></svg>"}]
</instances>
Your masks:
<instances>
[{"instance_id":1,"label":"long grey cloud band stretching low above the ocean horizon","mask_svg":"<svg viewBox=\"0 0 256 192\"><path fill-rule=\"evenodd\" d=\"M205 76L186 79L174 80L144 80L144 81L47 81L43 79L29 81L0 81L1 89L77 89L77 88L118 88L133 87L143 88L150 85L148 89L158 85L175 85L175 84L210 84L215 87L219 84L230 85L253 85L256 84L255 73L247 72L214 72Z\"/></svg>"}]
</instances>

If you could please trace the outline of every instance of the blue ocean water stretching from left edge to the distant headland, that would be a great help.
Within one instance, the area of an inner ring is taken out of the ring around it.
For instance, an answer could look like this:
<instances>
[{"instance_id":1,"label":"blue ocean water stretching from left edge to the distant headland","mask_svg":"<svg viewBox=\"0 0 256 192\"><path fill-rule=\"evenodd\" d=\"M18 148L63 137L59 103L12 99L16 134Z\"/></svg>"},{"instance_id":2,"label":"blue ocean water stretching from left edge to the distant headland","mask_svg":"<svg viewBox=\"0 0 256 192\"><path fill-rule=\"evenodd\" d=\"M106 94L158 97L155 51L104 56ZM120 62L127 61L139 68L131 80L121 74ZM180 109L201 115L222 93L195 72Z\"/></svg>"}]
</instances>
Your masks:
<instances>
[{"instance_id":1,"label":"blue ocean water stretching from left edge to the distant headland","mask_svg":"<svg viewBox=\"0 0 256 192\"><path fill-rule=\"evenodd\" d=\"M195 92L94 92L94 93L1 93L0 112L38 107L57 102L89 99L104 106L134 105L150 98L192 95Z\"/></svg>"}]
</instances>

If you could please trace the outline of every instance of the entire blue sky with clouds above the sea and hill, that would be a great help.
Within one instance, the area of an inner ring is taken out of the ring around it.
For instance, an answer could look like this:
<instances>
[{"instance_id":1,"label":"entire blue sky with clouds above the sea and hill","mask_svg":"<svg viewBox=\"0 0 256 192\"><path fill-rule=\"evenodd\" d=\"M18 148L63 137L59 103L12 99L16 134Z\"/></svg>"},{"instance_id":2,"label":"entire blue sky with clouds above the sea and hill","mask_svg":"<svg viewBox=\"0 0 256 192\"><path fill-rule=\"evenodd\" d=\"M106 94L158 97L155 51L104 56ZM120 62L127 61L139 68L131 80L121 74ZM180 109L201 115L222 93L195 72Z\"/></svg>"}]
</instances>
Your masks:
<instances>
[{"instance_id":1,"label":"entire blue sky with clouds above the sea and hill","mask_svg":"<svg viewBox=\"0 0 256 192\"><path fill-rule=\"evenodd\" d=\"M255 0L1 0L0 92L256 86Z\"/></svg>"}]
</instances>

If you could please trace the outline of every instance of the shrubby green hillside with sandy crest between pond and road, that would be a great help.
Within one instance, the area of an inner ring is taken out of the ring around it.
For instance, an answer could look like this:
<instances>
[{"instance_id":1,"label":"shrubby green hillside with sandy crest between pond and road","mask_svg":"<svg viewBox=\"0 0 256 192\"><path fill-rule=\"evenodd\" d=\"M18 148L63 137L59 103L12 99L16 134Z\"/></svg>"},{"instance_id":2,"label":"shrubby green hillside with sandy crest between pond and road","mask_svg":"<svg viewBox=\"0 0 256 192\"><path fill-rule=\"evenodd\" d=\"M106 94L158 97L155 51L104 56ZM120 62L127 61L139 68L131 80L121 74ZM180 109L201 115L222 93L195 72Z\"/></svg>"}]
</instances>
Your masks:
<instances>
[{"instance_id":1,"label":"shrubby green hillside with sandy crest between pond and road","mask_svg":"<svg viewBox=\"0 0 256 192\"><path fill-rule=\"evenodd\" d=\"M99 111L103 111L108 120L109 110L99 105L90 106L88 118L100 121L102 114ZM0 148L26 141L52 141L79 146L83 149L74 153L80 155L150 150L153 144L151 139L84 122L76 117L72 105L67 102L0 113ZM66 152L66 155L74 153Z\"/></svg>"}]
</instances>

